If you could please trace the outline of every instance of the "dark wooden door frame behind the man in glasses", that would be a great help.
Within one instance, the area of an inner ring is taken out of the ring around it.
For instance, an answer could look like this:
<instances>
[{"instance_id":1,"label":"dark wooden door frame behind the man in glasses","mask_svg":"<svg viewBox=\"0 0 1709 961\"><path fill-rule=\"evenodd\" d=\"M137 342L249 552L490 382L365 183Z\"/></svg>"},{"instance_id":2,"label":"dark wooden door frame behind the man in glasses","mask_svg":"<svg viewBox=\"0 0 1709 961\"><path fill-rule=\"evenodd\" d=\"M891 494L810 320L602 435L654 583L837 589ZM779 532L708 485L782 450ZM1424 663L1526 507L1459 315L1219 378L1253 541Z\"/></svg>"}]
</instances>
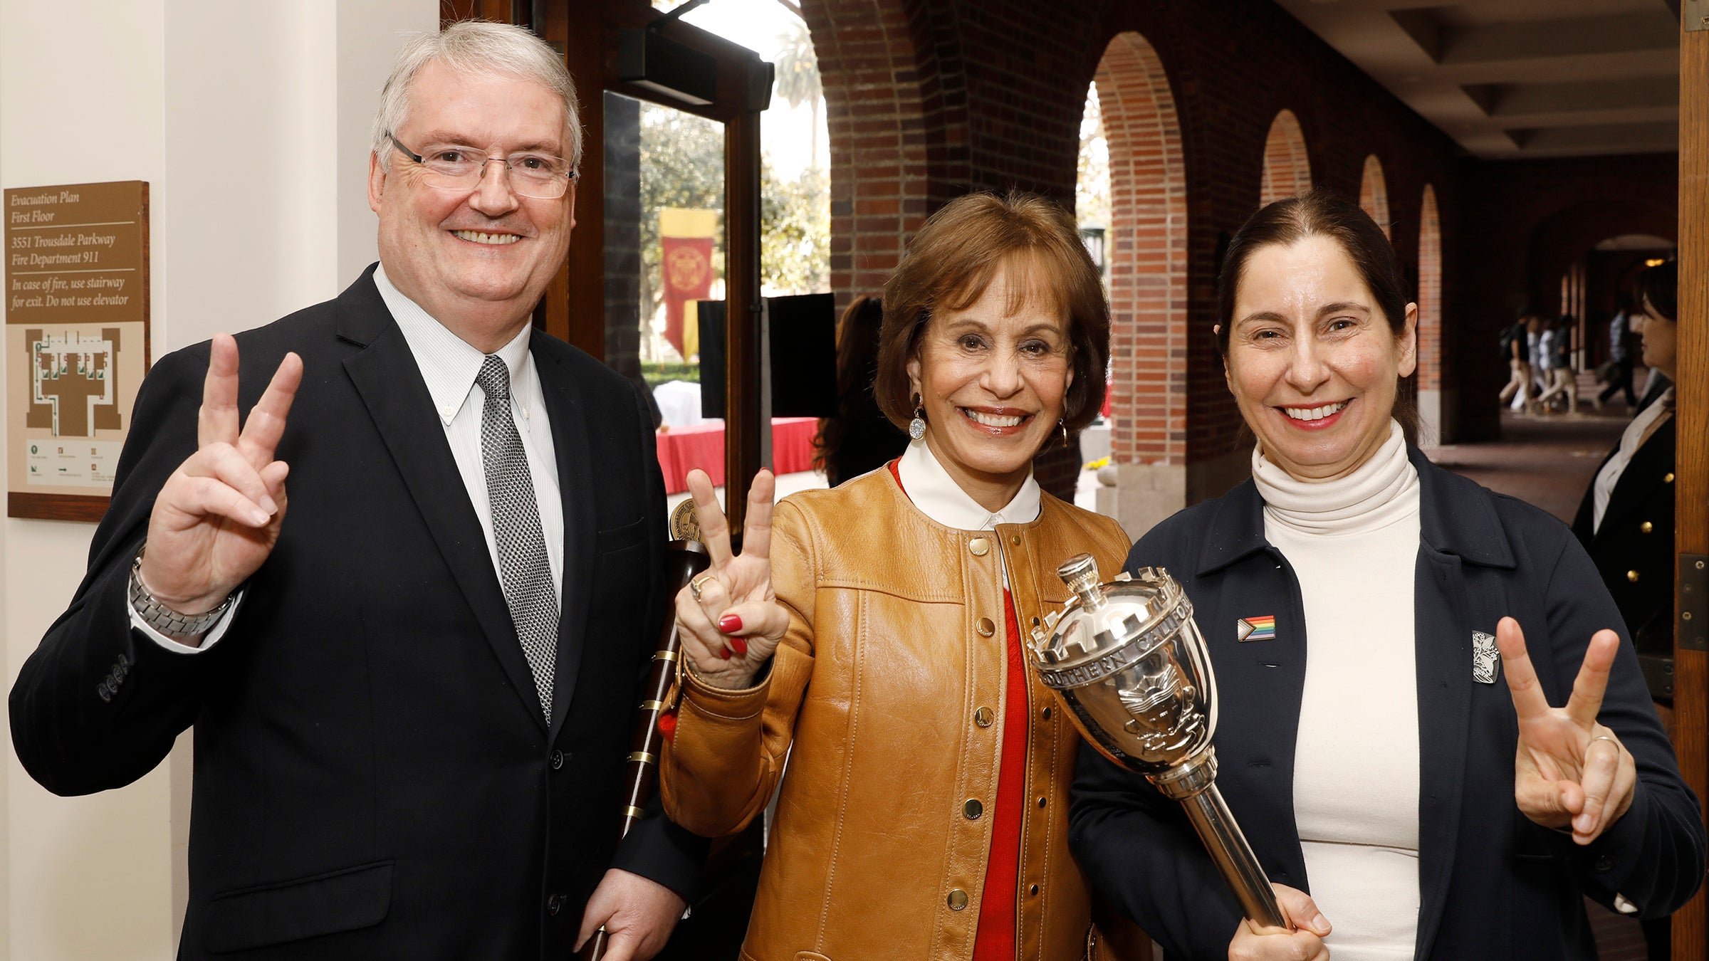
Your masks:
<instances>
[{"instance_id":1,"label":"dark wooden door frame behind the man in glasses","mask_svg":"<svg viewBox=\"0 0 1709 961\"><path fill-rule=\"evenodd\" d=\"M725 125L725 515L740 532L747 491L761 469L761 431L769 429L759 385L759 115L771 101L771 65L745 46L673 19L660 26L660 36L718 63L714 101L678 103L617 79L617 31L665 17L646 0L441 0L439 7L441 24L472 17L521 24L564 53L581 101L576 229L535 325L595 357L605 357L605 92Z\"/></svg>"}]
</instances>

